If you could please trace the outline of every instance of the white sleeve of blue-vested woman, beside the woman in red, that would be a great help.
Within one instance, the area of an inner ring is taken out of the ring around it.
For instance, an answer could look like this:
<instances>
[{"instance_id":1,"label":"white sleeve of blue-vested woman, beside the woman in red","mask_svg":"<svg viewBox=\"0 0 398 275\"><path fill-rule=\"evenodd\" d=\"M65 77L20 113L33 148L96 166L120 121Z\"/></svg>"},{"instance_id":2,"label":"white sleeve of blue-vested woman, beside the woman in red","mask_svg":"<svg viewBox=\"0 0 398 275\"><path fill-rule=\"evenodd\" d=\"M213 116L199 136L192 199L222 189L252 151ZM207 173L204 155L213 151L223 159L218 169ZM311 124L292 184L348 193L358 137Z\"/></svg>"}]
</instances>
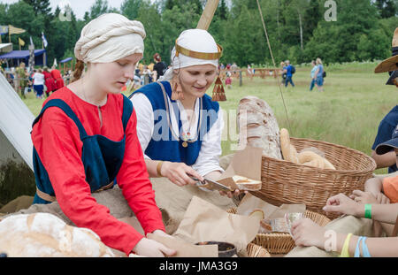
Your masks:
<instances>
[{"instance_id":1,"label":"white sleeve of blue-vested woman, beside the woman in red","mask_svg":"<svg viewBox=\"0 0 398 275\"><path fill-rule=\"evenodd\" d=\"M137 136L141 143L142 152L144 152L144 158L150 159L150 157L145 155L145 150L152 139L154 129L152 104L148 97L142 93L134 94L130 100L133 103L135 115L137 116Z\"/></svg>"}]
</instances>

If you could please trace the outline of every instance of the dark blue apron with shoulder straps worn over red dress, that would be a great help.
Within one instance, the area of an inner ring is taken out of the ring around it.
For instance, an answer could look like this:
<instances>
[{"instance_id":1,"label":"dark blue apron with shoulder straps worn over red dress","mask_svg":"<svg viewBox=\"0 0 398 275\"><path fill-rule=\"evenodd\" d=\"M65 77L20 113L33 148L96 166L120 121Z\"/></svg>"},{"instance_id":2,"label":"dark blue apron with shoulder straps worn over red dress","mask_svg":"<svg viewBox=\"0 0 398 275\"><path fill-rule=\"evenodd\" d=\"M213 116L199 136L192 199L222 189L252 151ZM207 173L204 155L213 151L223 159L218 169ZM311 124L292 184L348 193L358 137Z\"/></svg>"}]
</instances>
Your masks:
<instances>
[{"instance_id":1,"label":"dark blue apron with shoulder straps worn over red dress","mask_svg":"<svg viewBox=\"0 0 398 275\"><path fill-rule=\"evenodd\" d=\"M42 118L42 114L50 107L60 108L73 120L79 128L80 141L83 142L81 161L86 172L86 181L91 192L111 188L123 163L126 148L126 134L121 141L111 141L103 135L88 135L79 118L72 109L61 99L52 99L42 108L39 116L34 119L33 126ZM123 129L126 132L127 122L133 112L133 104L123 95ZM32 127L33 127L32 126ZM54 160L57 161L57 160ZM33 151L34 178L36 182L36 194L34 203L54 202L55 193L51 186L49 174L42 164L36 149ZM115 180L116 181L116 180Z\"/></svg>"}]
</instances>

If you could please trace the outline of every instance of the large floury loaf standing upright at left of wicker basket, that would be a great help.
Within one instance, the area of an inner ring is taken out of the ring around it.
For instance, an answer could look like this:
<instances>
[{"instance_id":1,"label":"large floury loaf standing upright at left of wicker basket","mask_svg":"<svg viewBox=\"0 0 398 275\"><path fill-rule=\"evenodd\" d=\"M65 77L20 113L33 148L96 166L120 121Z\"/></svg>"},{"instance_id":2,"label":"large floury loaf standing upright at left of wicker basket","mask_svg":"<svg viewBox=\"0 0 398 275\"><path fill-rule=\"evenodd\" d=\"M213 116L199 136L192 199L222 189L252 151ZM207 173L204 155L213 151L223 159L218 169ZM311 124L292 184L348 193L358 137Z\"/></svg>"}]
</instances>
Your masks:
<instances>
[{"instance_id":1,"label":"large floury loaf standing upright at left of wicker basket","mask_svg":"<svg viewBox=\"0 0 398 275\"><path fill-rule=\"evenodd\" d=\"M239 148L263 149L263 155L282 159L279 126L271 107L256 96L245 96L238 106Z\"/></svg>"}]
</instances>

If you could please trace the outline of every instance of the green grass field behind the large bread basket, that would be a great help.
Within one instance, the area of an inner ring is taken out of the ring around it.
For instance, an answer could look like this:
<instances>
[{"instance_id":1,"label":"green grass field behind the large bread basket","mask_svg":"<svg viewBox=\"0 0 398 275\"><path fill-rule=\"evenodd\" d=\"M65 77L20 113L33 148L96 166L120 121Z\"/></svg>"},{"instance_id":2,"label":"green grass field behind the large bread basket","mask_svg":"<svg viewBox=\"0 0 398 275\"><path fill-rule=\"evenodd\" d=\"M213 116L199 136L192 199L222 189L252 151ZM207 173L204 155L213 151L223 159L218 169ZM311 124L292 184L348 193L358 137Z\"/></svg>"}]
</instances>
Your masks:
<instances>
[{"instance_id":1,"label":"green grass field behind the large bread basket","mask_svg":"<svg viewBox=\"0 0 398 275\"><path fill-rule=\"evenodd\" d=\"M291 136L329 141L370 155L380 120L398 103L397 88L385 85L387 73L373 73L376 65L351 63L326 66L325 91L322 93L317 88L309 91L310 66L297 66L293 78L296 87L281 87L287 114L276 79L243 78L241 87L239 80L233 79L233 87L226 89L227 101L220 103L228 114L225 139L222 141L223 155L231 153L233 144L236 144L234 114L239 100L245 95L264 99L272 107L279 127L289 129ZM209 95L211 91L212 88L208 91ZM40 112L42 101L35 99L32 93L24 101L34 115Z\"/></svg>"}]
</instances>

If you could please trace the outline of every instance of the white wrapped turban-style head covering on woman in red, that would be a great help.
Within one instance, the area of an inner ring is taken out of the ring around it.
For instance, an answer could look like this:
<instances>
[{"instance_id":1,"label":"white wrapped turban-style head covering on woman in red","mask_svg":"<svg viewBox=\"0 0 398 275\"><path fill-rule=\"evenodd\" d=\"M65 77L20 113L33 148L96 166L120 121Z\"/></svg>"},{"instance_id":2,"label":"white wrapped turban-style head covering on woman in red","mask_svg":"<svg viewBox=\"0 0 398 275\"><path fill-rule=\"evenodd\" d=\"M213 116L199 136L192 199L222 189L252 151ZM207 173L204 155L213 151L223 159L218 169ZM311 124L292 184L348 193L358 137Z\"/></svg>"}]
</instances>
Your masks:
<instances>
[{"instance_id":1,"label":"white wrapped turban-style head covering on woman in red","mask_svg":"<svg viewBox=\"0 0 398 275\"><path fill-rule=\"evenodd\" d=\"M140 21L117 13L105 13L81 30L74 55L84 63L110 63L143 53L145 29Z\"/></svg>"}]
</instances>

